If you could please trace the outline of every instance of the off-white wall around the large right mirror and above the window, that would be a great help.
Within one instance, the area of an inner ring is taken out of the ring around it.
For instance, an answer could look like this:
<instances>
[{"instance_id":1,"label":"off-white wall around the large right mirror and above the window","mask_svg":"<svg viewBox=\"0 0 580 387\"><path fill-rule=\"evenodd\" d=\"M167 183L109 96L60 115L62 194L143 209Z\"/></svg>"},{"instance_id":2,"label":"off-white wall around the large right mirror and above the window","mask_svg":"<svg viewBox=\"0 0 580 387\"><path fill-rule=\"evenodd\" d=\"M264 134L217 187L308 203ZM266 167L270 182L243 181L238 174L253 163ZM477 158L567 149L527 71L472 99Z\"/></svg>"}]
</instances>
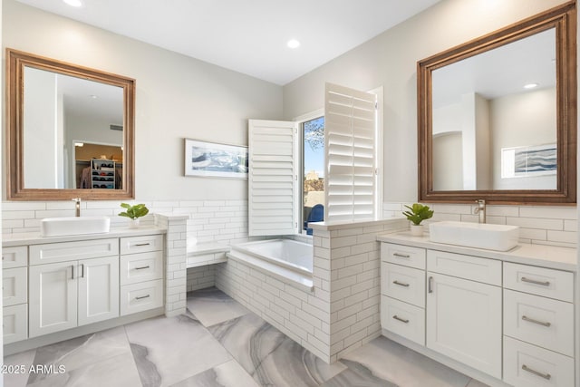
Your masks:
<instances>
[{"instance_id":1,"label":"off-white wall around the large right mirror and above the window","mask_svg":"<svg viewBox=\"0 0 580 387\"><path fill-rule=\"evenodd\" d=\"M565 0L443 0L284 87L285 118L324 106L324 82L384 87L384 201L417 198L417 61ZM396 165L397 168L389 168Z\"/></svg>"}]
</instances>

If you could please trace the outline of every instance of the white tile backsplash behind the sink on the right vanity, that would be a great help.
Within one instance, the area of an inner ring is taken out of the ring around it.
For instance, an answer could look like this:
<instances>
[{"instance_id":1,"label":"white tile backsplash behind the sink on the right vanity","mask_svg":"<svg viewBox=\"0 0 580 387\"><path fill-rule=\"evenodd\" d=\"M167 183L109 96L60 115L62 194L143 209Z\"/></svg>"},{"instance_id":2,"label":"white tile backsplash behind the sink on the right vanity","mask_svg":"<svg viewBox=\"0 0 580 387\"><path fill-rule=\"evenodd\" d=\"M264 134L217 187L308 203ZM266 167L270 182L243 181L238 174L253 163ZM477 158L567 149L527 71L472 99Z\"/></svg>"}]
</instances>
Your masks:
<instances>
[{"instance_id":1,"label":"white tile backsplash behind the sink on the right vanity","mask_svg":"<svg viewBox=\"0 0 580 387\"><path fill-rule=\"evenodd\" d=\"M400 218L404 205L411 203L383 203L384 218ZM478 222L475 214L477 204L423 203L435 210L433 218L423 222L457 220L461 222ZM520 228L519 241L536 245L576 247L578 214L576 206L496 206L486 207L488 223L511 225Z\"/></svg>"}]
</instances>

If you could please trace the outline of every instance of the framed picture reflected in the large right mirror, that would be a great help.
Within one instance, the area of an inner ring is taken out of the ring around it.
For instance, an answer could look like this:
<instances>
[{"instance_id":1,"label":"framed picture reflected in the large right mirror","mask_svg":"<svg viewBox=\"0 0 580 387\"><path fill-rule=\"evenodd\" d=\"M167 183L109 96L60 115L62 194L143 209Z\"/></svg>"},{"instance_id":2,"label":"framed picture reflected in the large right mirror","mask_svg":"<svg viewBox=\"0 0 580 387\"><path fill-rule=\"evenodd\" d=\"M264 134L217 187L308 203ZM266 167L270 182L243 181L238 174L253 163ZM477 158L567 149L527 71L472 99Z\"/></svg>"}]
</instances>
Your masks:
<instances>
[{"instance_id":1,"label":"framed picture reflected in the large right mirror","mask_svg":"<svg viewBox=\"0 0 580 387\"><path fill-rule=\"evenodd\" d=\"M555 175L556 171L556 144L502 148L501 150L502 179Z\"/></svg>"}]
</instances>

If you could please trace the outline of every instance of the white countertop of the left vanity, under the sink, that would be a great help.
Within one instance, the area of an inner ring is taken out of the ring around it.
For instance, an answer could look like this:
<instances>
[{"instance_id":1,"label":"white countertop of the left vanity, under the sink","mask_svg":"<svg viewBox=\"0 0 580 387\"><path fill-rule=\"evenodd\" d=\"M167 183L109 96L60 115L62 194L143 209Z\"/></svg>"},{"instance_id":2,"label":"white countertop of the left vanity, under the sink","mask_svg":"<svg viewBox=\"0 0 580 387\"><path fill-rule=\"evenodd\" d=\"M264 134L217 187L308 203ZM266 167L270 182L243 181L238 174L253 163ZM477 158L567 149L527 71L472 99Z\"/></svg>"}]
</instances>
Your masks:
<instances>
[{"instance_id":1,"label":"white countertop of the left vanity, under the sink","mask_svg":"<svg viewBox=\"0 0 580 387\"><path fill-rule=\"evenodd\" d=\"M23 245L41 245L44 243L73 242L77 240L105 239L108 237L140 237L153 234L165 234L166 228L157 226L141 226L138 228L114 227L108 233L82 234L65 237L41 237L40 232L14 233L2 235L2 247Z\"/></svg>"}]
</instances>

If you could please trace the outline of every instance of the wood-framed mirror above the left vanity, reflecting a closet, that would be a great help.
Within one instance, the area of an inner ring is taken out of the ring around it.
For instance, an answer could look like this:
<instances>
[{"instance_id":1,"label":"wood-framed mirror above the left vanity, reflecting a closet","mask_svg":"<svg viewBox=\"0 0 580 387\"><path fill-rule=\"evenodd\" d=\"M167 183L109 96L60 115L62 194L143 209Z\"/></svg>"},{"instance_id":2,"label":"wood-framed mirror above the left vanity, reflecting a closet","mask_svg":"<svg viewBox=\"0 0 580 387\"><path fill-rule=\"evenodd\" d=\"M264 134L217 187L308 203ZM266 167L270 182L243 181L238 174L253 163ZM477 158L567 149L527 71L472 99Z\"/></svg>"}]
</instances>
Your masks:
<instances>
[{"instance_id":1,"label":"wood-framed mirror above the left vanity, reflecting a closet","mask_svg":"<svg viewBox=\"0 0 580 387\"><path fill-rule=\"evenodd\" d=\"M6 49L6 199L134 198L135 80Z\"/></svg>"}]
</instances>

